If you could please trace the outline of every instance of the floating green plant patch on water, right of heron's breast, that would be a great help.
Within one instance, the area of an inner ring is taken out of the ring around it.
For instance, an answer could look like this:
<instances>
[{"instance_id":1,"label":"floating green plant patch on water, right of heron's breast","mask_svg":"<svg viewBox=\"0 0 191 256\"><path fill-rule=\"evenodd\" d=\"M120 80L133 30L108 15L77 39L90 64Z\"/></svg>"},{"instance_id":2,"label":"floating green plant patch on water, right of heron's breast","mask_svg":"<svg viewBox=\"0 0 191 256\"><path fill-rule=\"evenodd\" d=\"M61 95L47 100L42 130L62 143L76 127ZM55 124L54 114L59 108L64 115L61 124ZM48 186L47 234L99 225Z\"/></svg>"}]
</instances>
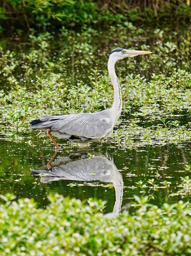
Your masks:
<instances>
[{"instance_id":1,"label":"floating green plant patch on water, right of heron's breast","mask_svg":"<svg viewBox=\"0 0 191 256\"><path fill-rule=\"evenodd\" d=\"M149 127L142 127L142 121L136 119L132 123L121 124L121 129L114 132L114 140L119 148L132 149L146 145L150 146L164 146L169 144L180 144L182 142L190 141L191 128L190 124L181 127L163 127L162 124L153 125ZM174 121L176 124L177 122ZM145 126L144 122L144 126ZM111 138L112 139L112 138Z\"/></svg>"}]
</instances>

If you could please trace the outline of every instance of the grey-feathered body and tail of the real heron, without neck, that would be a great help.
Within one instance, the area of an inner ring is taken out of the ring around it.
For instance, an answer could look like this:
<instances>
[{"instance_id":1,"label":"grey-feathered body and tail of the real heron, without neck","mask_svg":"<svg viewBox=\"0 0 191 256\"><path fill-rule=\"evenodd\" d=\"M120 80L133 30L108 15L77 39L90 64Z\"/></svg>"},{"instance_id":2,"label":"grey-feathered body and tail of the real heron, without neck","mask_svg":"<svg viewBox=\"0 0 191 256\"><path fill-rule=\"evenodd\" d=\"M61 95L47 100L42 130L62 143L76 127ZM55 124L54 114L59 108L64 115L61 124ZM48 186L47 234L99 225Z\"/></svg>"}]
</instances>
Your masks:
<instances>
[{"instance_id":1,"label":"grey-feathered body and tail of the real heron, without neck","mask_svg":"<svg viewBox=\"0 0 191 256\"><path fill-rule=\"evenodd\" d=\"M52 134L58 138L68 139L73 135L76 137L71 140L93 140L99 139L111 132L112 122L109 110L96 113L77 113L64 116L43 115L40 122L33 124L33 129L51 129ZM68 135L68 136L67 136ZM86 139L85 139L86 138Z\"/></svg>"}]
</instances>

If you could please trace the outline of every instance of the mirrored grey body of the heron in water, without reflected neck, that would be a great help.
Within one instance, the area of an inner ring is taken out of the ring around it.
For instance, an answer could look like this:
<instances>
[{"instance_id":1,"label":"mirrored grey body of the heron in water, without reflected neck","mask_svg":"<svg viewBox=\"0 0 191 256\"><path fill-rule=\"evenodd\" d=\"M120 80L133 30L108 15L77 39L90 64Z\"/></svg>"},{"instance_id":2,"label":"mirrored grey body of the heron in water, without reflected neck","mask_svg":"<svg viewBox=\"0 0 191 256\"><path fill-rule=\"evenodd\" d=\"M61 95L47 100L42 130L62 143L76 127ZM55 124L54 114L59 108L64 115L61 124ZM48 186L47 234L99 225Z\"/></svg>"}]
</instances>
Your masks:
<instances>
[{"instance_id":1,"label":"mirrored grey body of the heron in water, without reflected neck","mask_svg":"<svg viewBox=\"0 0 191 256\"><path fill-rule=\"evenodd\" d=\"M118 176L121 177L114 162L102 155L87 158L86 154L84 154L84 156L81 157L79 155L74 159L60 157L58 161L58 165L57 161L52 163L51 169L42 167L40 169L32 169L32 172L40 173L42 182L51 182L53 180L114 182L118 180Z\"/></svg>"}]
</instances>

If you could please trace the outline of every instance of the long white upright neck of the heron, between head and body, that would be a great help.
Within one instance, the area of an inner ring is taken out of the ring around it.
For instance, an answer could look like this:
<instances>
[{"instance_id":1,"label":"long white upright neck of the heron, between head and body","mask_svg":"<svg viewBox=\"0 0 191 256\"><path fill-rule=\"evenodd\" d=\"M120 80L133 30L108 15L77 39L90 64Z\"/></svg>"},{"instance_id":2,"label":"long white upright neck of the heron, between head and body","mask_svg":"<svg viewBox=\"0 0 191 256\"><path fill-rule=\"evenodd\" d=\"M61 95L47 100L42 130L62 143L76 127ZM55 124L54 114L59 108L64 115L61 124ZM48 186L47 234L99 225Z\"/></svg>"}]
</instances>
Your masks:
<instances>
[{"instance_id":1,"label":"long white upright neck of the heron, between head and body","mask_svg":"<svg viewBox=\"0 0 191 256\"><path fill-rule=\"evenodd\" d=\"M113 123L116 124L118 118L121 115L122 110L122 98L121 98L121 88L120 88L120 82L118 81L118 78L115 73L115 60L109 59L108 60L108 72L109 76L111 78L111 82L114 86L114 103L111 107L112 114L113 114Z\"/></svg>"}]
</instances>

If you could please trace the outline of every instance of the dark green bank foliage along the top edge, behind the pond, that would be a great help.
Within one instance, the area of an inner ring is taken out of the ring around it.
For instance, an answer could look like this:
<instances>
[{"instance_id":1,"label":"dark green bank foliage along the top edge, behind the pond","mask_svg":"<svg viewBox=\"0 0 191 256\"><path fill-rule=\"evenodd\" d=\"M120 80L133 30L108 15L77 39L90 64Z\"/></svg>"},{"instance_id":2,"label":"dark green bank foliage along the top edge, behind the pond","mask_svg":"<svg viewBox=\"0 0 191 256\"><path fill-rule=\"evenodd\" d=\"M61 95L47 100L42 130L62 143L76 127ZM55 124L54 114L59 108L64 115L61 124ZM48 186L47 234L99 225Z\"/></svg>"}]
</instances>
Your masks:
<instances>
[{"instance_id":1,"label":"dark green bank foliage along the top edge, behind the pond","mask_svg":"<svg viewBox=\"0 0 191 256\"><path fill-rule=\"evenodd\" d=\"M190 1L99 1L99 0L3 0L0 20L3 27L13 30L39 31L62 25L106 27L122 21L145 21L173 26L174 17L180 24L190 21ZM186 3L185 3L186 2ZM171 13L171 15L169 15ZM4 20L7 20L4 22ZM13 28L12 27L12 28Z\"/></svg>"}]
</instances>

